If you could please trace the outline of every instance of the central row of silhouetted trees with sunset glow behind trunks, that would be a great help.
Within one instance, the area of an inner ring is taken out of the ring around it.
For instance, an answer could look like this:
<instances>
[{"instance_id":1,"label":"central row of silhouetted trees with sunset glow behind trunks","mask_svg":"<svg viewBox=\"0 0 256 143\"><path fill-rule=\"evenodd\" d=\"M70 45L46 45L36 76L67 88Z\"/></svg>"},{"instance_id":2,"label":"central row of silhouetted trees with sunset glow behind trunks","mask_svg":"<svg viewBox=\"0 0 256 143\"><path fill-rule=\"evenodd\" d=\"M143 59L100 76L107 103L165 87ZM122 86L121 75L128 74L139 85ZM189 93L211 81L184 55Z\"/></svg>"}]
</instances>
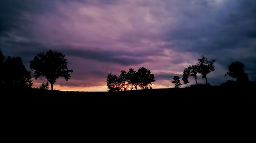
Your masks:
<instances>
[{"instance_id":1,"label":"central row of silhouetted trees with sunset glow behind trunks","mask_svg":"<svg viewBox=\"0 0 256 143\"><path fill-rule=\"evenodd\" d=\"M154 74L151 73L151 70L144 67L139 68L137 72L132 68L127 72L122 70L119 77L112 73L106 76L106 85L109 92L126 91L129 88L137 90L138 87L141 89L152 89L151 85L154 81Z\"/></svg>"}]
</instances>

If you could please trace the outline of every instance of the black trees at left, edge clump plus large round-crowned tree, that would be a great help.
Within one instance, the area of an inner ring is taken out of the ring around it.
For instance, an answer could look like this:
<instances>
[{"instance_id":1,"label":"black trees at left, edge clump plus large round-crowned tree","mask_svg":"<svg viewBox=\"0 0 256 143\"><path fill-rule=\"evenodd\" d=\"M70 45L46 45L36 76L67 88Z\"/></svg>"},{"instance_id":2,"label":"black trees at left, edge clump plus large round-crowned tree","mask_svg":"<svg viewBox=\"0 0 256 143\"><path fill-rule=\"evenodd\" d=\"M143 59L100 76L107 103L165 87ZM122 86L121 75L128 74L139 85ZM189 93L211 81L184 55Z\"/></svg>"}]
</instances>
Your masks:
<instances>
[{"instance_id":1,"label":"black trees at left, edge clump plus large round-crowned tree","mask_svg":"<svg viewBox=\"0 0 256 143\"><path fill-rule=\"evenodd\" d=\"M67 59L61 52L49 50L46 53L38 53L34 60L30 62L30 69L34 72L36 78L42 76L51 83L51 89L59 77L64 77L67 81L70 79L70 73L67 67ZM31 72L23 65L22 59L8 58L0 50L0 88L2 89L29 89L32 87ZM49 83L42 83L40 89L48 89Z\"/></svg>"}]
</instances>

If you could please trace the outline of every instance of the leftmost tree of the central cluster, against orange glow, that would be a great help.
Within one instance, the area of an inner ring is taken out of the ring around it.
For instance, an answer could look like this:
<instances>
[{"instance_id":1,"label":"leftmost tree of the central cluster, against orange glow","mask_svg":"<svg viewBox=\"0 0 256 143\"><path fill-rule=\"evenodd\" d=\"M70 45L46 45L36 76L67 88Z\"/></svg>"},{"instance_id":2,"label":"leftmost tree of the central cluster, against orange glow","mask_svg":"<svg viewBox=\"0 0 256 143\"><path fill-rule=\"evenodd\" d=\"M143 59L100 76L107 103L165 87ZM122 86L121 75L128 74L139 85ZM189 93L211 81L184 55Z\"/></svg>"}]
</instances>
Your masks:
<instances>
[{"instance_id":1,"label":"leftmost tree of the central cluster, against orange glow","mask_svg":"<svg viewBox=\"0 0 256 143\"><path fill-rule=\"evenodd\" d=\"M106 85L109 92L119 92L121 90L121 80L115 74L109 73L106 76Z\"/></svg>"}]
</instances>

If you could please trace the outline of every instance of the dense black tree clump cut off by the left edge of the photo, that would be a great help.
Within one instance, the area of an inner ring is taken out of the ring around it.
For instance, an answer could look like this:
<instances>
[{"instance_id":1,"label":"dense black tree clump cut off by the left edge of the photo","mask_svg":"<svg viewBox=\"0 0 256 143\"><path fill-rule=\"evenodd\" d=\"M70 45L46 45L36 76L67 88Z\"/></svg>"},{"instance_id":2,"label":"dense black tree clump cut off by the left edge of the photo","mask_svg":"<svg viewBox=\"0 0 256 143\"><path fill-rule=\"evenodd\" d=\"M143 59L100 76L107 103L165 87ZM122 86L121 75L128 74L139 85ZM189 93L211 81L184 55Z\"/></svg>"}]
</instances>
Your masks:
<instances>
[{"instance_id":1,"label":"dense black tree clump cut off by the left edge of the photo","mask_svg":"<svg viewBox=\"0 0 256 143\"><path fill-rule=\"evenodd\" d=\"M22 59L10 58L1 66L1 88L4 89L28 89L32 86L30 72L23 65Z\"/></svg>"}]
</instances>

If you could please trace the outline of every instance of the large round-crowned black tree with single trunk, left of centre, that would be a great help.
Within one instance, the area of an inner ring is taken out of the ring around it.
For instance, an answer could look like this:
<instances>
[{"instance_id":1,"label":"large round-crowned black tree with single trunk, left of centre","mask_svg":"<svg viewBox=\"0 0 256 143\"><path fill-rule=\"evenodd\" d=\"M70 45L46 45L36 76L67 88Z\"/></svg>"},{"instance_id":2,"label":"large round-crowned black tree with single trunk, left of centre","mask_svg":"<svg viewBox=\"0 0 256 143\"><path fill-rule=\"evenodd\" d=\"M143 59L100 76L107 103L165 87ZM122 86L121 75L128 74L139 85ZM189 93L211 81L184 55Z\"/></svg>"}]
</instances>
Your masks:
<instances>
[{"instance_id":1,"label":"large round-crowned black tree with single trunk, left of centre","mask_svg":"<svg viewBox=\"0 0 256 143\"><path fill-rule=\"evenodd\" d=\"M64 77L66 81L70 79L70 73L73 70L69 70L67 64L64 54L49 50L46 54L38 53L30 62L30 68L34 71L36 78L46 77L51 83L51 90L53 90L53 85L59 77Z\"/></svg>"}]
</instances>

